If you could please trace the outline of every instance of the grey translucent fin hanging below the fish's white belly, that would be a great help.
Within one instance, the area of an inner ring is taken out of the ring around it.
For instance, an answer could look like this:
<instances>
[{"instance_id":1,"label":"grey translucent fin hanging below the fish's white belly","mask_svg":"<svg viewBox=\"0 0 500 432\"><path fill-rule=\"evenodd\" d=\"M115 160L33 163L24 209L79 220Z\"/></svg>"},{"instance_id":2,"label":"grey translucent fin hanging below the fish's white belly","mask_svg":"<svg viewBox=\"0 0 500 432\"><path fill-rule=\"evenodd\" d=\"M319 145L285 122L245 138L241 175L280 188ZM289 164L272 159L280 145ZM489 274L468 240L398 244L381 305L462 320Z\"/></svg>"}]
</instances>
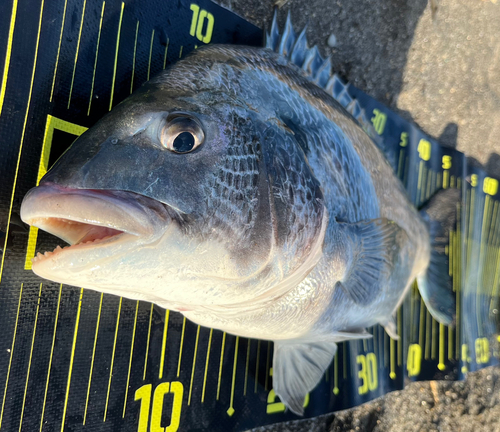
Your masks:
<instances>
[{"instance_id":1,"label":"grey translucent fin hanging below the fish's white belly","mask_svg":"<svg viewBox=\"0 0 500 432\"><path fill-rule=\"evenodd\" d=\"M304 414L304 400L320 381L337 352L333 342L274 342L273 388L295 414Z\"/></svg>"}]
</instances>

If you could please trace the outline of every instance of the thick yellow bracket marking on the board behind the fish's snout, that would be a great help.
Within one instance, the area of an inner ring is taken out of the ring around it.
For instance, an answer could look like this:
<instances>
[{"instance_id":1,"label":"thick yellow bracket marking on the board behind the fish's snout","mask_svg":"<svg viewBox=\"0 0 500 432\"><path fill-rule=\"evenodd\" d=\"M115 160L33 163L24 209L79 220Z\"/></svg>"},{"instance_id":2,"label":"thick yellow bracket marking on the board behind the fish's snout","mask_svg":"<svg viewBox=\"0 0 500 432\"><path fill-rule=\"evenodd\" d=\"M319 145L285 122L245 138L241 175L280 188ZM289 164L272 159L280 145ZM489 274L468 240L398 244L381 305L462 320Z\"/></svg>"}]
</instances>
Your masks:
<instances>
[{"instance_id":1,"label":"thick yellow bracket marking on the board behind the fish's snout","mask_svg":"<svg viewBox=\"0 0 500 432\"><path fill-rule=\"evenodd\" d=\"M47 115L47 122L45 123L45 133L43 135L42 154L40 157L40 164L38 166L38 175L36 178L37 186L40 184L40 180L47 173L49 169L50 149L52 147L52 138L54 137L55 129L76 136L80 136L83 132L87 130L87 128L84 126L79 126L74 123L61 120L57 117L51 116L50 114ZM34 226L30 227L28 236L28 246L26 248L26 259L24 261L25 270L31 270L31 265L32 265L31 260L35 256L37 237L38 237L38 228Z\"/></svg>"}]
</instances>

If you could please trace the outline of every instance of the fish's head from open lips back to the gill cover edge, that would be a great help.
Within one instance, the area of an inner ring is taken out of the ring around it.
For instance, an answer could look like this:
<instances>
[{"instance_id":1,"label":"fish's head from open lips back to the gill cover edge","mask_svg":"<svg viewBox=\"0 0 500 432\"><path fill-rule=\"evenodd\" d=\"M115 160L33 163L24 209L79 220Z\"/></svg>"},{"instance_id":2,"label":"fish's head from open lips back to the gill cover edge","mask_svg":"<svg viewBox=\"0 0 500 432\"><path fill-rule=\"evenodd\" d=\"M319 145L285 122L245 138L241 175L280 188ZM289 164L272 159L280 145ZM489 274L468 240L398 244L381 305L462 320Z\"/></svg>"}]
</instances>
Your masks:
<instances>
[{"instance_id":1,"label":"fish's head from open lips back to the gill cover edge","mask_svg":"<svg viewBox=\"0 0 500 432\"><path fill-rule=\"evenodd\" d=\"M193 69L143 85L28 192L22 219L70 244L36 274L188 311L277 295L317 262L326 211L304 155Z\"/></svg>"}]
</instances>

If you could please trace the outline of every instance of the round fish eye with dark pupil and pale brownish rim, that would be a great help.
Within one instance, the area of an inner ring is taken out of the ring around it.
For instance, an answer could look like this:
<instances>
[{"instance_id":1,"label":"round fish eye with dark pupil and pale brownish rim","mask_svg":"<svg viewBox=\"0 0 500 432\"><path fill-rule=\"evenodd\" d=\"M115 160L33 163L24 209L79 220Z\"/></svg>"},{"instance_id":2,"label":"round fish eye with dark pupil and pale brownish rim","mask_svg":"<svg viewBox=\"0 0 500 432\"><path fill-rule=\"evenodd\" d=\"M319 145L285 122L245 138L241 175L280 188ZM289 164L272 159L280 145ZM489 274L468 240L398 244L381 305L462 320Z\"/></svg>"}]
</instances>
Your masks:
<instances>
[{"instance_id":1,"label":"round fish eye with dark pupil and pale brownish rim","mask_svg":"<svg viewBox=\"0 0 500 432\"><path fill-rule=\"evenodd\" d=\"M203 144L205 133L200 122L191 116L169 116L160 132L160 142L174 153L189 153Z\"/></svg>"}]
</instances>

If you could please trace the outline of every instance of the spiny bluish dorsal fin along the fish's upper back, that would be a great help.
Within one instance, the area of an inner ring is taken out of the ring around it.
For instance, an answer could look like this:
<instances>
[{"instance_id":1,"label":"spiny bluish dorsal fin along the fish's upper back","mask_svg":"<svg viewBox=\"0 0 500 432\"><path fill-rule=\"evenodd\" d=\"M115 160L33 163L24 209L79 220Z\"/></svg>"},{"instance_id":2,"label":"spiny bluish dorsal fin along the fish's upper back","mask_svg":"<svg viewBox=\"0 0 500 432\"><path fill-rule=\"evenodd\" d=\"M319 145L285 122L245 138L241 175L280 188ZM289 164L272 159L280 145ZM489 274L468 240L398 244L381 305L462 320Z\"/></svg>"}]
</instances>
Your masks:
<instances>
[{"instance_id":1,"label":"spiny bluish dorsal fin along the fish's upper back","mask_svg":"<svg viewBox=\"0 0 500 432\"><path fill-rule=\"evenodd\" d=\"M293 28L290 12L288 12L283 34L278 28L278 12L274 11L271 30L266 33L266 48L269 48L301 68L319 87L331 94L361 125L365 132L383 149L380 137L375 132L365 110L351 97L349 84L337 74L332 74L330 57L324 59L315 45L309 48L306 37L306 27L297 34Z\"/></svg>"}]
</instances>

